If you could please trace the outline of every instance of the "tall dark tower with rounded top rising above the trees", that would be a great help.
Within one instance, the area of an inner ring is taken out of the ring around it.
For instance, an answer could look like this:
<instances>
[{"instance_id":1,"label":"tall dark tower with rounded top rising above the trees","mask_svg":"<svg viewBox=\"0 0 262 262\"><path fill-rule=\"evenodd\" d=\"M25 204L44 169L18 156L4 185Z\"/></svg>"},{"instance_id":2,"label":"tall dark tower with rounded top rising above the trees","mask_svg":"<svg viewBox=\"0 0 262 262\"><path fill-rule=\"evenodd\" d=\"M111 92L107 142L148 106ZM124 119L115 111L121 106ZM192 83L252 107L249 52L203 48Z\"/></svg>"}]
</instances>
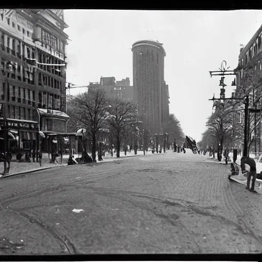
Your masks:
<instances>
[{"instance_id":1,"label":"tall dark tower with rounded top rising above the trees","mask_svg":"<svg viewBox=\"0 0 262 262\"><path fill-rule=\"evenodd\" d=\"M138 104L140 119L162 131L168 117L168 85L164 80L162 43L140 40L133 43L134 102Z\"/></svg>"}]
</instances>

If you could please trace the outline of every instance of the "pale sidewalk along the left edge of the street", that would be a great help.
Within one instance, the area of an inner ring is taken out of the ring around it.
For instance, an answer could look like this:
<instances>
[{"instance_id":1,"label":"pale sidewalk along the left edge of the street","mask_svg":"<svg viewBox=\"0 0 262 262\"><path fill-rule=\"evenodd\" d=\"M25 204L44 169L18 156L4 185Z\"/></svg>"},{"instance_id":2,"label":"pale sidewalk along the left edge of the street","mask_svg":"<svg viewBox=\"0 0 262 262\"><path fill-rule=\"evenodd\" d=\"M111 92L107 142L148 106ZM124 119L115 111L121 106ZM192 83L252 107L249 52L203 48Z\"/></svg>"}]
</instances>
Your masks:
<instances>
[{"instance_id":1,"label":"pale sidewalk along the left edge of the street","mask_svg":"<svg viewBox=\"0 0 262 262\"><path fill-rule=\"evenodd\" d=\"M160 153L155 153L156 155L159 155ZM163 152L161 154L164 154ZM116 157L116 153L114 153L113 157L111 157L109 154L105 157L103 157L103 161L98 161L97 157L97 163L102 163L102 162L111 162L111 161L115 161L115 160L121 160L124 159L126 157L135 157L135 156L142 156L144 155L143 151L137 151L137 155L135 155L134 151L131 152L127 152L126 156L124 154L124 152L120 152L120 158ZM151 151L148 151L147 155L153 155ZM51 157L51 155L50 155ZM75 154L74 155L75 158L81 157L81 154ZM10 176L14 176L15 174L22 174L22 173L31 173L31 172L36 172L39 170L45 170L48 168L53 168L53 167L60 167L60 166L66 166L67 165L67 161L69 159L69 155L63 155L63 161L62 164L50 164L49 163L49 158L48 158L48 153L43 153L42 154L42 166L39 165L38 162L16 162L15 161L15 157L13 157L11 163L10 163L10 170L9 170L9 174L7 176L5 176L5 178L10 177ZM0 172L4 171L4 163L0 163ZM0 178L2 177L2 175L0 174Z\"/></svg>"}]
</instances>

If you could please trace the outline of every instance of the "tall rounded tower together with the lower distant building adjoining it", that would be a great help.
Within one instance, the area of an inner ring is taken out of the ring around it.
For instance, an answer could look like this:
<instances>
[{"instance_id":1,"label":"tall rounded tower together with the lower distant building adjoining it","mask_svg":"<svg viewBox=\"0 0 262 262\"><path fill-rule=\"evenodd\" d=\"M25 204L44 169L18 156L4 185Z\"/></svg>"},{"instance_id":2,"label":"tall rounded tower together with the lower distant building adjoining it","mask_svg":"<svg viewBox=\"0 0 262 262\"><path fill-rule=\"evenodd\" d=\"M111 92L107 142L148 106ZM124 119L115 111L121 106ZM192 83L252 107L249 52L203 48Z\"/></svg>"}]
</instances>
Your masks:
<instances>
[{"instance_id":1,"label":"tall rounded tower together with the lower distant building adjoining it","mask_svg":"<svg viewBox=\"0 0 262 262\"><path fill-rule=\"evenodd\" d=\"M132 45L133 86L129 78L101 77L90 82L89 88L102 88L113 97L132 100L138 105L140 120L155 133L163 133L169 116L169 89L164 80L163 44L139 40Z\"/></svg>"}]
</instances>

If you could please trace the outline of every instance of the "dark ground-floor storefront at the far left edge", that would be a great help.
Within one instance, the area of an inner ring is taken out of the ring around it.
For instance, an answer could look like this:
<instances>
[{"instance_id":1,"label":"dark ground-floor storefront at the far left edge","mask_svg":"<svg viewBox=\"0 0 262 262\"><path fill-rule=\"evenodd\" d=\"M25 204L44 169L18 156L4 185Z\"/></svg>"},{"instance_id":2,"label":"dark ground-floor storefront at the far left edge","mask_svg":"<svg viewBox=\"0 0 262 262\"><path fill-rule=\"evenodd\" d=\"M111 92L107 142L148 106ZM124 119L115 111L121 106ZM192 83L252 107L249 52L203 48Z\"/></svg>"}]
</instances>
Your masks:
<instances>
[{"instance_id":1,"label":"dark ground-floor storefront at the far left edge","mask_svg":"<svg viewBox=\"0 0 262 262\"><path fill-rule=\"evenodd\" d=\"M0 150L12 153L29 152L39 148L38 122L0 119Z\"/></svg>"}]
</instances>

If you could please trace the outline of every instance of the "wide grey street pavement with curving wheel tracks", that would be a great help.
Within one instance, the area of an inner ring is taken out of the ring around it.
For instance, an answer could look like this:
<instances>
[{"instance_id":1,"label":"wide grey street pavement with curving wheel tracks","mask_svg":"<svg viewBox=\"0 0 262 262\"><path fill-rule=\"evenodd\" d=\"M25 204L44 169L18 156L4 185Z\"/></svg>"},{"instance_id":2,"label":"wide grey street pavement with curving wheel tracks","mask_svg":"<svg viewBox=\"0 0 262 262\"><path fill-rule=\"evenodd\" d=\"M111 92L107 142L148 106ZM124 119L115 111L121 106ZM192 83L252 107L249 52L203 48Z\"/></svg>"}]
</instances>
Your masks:
<instances>
[{"instance_id":1,"label":"wide grey street pavement with curving wheel tracks","mask_svg":"<svg viewBox=\"0 0 262 262\"><path fill-rule=\"evenodd\" d=\"M261 251L261 195L206 160L169 151L1 180L0 254Z\"/></svg>"}]
</instances>

